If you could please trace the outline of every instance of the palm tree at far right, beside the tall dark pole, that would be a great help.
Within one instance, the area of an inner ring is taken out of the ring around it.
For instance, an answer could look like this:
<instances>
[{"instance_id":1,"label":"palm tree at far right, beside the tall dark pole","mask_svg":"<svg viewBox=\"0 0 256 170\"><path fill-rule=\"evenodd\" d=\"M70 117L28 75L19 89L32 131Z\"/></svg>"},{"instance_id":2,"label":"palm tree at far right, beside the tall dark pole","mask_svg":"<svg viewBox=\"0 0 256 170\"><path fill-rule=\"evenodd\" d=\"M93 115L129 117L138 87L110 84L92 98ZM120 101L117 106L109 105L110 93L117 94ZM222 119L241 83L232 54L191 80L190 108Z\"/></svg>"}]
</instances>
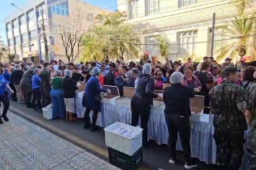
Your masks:
<instances>
[{"instance_id":1,"label":"palm tree at far right, beside the tall dark pole","mask_svg":"<svg viewBox=\"0 0 256 170\"><path fill-rule=\"evenodd\" d=\"M256 34L255 20L252 17L235 17L235 20L229 23L226 29L225 35L227 39L232 40L232 42L227 42L224 47L219 48L215 53L218 54L216 58L220 61L225 56L229 55L230 58L235 59L244 55L253 56L253 60L256 60L256 46L253 43Z\"/></svg>"}]
</instances>

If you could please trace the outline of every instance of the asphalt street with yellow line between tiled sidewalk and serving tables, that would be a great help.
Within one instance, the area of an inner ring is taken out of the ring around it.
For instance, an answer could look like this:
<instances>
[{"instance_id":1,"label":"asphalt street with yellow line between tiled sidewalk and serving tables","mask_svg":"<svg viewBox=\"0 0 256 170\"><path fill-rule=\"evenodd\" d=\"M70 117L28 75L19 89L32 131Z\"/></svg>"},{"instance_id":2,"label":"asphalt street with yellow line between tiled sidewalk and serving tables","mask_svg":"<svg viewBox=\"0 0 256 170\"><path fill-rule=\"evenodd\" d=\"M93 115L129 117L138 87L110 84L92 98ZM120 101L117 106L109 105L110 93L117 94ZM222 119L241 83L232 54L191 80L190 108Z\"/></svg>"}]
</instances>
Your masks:
<instances>
[{"instance_id":1,"label":"asphalt street with yellow line between tiled sidewalk and serving tables","mask_svg":"<svg viewBox=\"0 0 256 170\"><path fill-rule=\"evenodd\" d=\"M17 102L11 101L9 110L108 161L103 129L96 132L84 130L84 122L82 120L79 122L66 122L60 119L47 120L43 118L41 113L33 112L32 109L26 108L25 105L17 104ZM185 161L182 155L178 156L177 164L169 164L168 147L166 145L158 146L157 144L152 144L151 147L143 148L143 167L140 167L139 170L157 170L158 168L163 170L183 170ZM202 162L199 162L198 167L197 169L202 170L216 170L215 166L205 166Z\"/></svg>"}]
</instances>

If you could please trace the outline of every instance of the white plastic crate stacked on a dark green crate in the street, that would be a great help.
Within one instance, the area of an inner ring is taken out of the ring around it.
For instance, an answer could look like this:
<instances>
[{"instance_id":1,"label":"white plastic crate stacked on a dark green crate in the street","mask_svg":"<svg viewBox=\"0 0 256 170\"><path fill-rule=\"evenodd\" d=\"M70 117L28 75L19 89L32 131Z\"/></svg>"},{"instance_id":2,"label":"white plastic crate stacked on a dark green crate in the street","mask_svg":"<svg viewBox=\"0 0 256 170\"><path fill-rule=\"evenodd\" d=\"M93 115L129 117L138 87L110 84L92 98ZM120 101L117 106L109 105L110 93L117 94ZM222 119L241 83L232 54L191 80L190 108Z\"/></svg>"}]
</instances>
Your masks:
<instances>
[{"instance_id":1,"label":"white plastic crate stacked on a dark green crate in the street","mask_svg":"<svg viewBox=\"0 0 256 170\"><path fill-rule=\"evenodd\" d=\"M116 132L120 128L134 130L137 133L134 136L127 137ZM124 123L115 122L105 129L105 142L108 147L132 156L142 147L142 130L139 127L126 125Z\"/></svg>"}]
</instances>

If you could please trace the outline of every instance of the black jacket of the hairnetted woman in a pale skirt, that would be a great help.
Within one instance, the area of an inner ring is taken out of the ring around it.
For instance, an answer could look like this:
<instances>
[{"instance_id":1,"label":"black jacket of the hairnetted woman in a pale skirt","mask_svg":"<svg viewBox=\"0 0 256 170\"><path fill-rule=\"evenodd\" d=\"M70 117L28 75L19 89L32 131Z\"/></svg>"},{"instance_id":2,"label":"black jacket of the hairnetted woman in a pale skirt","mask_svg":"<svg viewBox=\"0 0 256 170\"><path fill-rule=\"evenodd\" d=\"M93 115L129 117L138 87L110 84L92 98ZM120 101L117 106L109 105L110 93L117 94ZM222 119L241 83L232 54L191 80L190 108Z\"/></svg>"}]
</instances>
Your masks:
<instances>
[{"instance_id":1,"label":"black jacket of the hairnetted woman in a pale skirt","mask_svg":"<svg viewBox=\"0 0 256 170\"><path fill-rule=\"evenodd\" d=\"M62 79L62 89L64 98L75 98L77 87L72 78L64 77Z\"/></svg>"}]
</instances>

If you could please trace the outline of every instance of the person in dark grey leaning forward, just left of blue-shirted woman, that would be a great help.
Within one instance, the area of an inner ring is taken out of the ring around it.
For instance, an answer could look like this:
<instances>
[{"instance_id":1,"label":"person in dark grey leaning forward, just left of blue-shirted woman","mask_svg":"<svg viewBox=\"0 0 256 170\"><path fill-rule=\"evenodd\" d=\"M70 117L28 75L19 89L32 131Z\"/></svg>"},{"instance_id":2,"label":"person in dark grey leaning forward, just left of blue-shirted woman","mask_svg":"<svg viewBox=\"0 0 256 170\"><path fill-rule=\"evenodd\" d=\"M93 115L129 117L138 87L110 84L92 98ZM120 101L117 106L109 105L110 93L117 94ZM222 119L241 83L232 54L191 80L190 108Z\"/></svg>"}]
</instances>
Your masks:
<instances>
[{"instance_id":1,"label":"person in dark grey leaning forward, just left of blue-shirted woman","mask_svg":"<svg viewBox=\"0 0 256 170\"><path fill-rule=\"evenodd\" d=\"M31 108L31 97L32 97L32 76L34 75L33 69L28 69L24 72L20 80L20 88L24 96L26 107Z\"/></svg>"}]
</instances>

